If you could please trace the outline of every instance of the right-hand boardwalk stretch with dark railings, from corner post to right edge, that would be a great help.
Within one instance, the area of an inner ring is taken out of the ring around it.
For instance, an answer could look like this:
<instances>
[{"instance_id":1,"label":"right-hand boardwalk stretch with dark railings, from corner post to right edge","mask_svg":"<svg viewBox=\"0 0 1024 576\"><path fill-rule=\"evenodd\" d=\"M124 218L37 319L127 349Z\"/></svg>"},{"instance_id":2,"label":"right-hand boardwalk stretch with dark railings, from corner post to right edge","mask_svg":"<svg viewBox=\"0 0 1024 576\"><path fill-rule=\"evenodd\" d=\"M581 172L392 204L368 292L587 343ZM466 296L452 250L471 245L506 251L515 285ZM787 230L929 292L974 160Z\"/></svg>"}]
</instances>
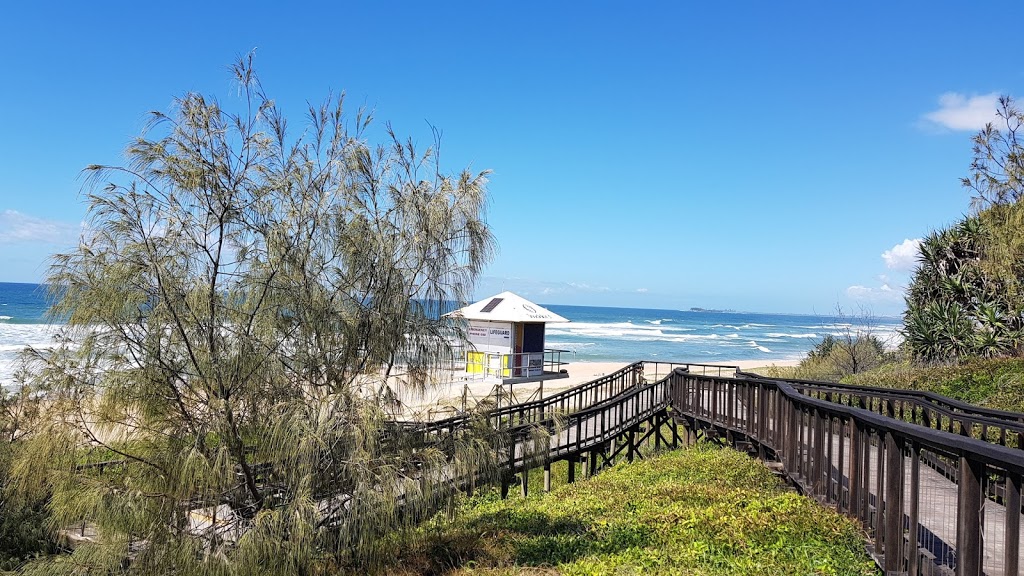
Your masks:
<instances>
[{"instance_id":1,"label":"right-hand boardwalk stretch with dark railings, from corner post to right edge","mask_svg":"<svg viewBox=\"0 0 1024 576\"><path fill-rule=\"evenodd\" d=\"M676 372L669 390L687 438L749 445L859 519L887 574L1019 574L1017 417L820 382Z\"/></svg>"}]
</instances>

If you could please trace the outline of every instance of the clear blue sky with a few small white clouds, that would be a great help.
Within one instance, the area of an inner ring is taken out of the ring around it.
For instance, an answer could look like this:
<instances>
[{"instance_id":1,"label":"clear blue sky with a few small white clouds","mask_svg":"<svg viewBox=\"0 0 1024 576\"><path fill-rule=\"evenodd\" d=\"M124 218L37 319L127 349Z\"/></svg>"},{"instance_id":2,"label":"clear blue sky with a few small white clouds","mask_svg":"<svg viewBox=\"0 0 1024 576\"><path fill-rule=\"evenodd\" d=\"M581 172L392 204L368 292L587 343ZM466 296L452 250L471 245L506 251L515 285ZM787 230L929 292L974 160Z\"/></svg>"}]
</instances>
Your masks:
<instances>
[{"instance_id":1,"label":"clear blue sky with a few small white clouds","mask_svg":"<svg viewBox=\"0 0 1024 576\"><path fill-rule=\"evenodd\" d=\"M970 136L1024 93L1013 2L145 4L5 7L0 281L75 242L83 167L176 95L230 101L257 48L293 126L344 90L494 170L479 296L896 314L913 240L968 210Z\"/></svg>"}]
</instances>

